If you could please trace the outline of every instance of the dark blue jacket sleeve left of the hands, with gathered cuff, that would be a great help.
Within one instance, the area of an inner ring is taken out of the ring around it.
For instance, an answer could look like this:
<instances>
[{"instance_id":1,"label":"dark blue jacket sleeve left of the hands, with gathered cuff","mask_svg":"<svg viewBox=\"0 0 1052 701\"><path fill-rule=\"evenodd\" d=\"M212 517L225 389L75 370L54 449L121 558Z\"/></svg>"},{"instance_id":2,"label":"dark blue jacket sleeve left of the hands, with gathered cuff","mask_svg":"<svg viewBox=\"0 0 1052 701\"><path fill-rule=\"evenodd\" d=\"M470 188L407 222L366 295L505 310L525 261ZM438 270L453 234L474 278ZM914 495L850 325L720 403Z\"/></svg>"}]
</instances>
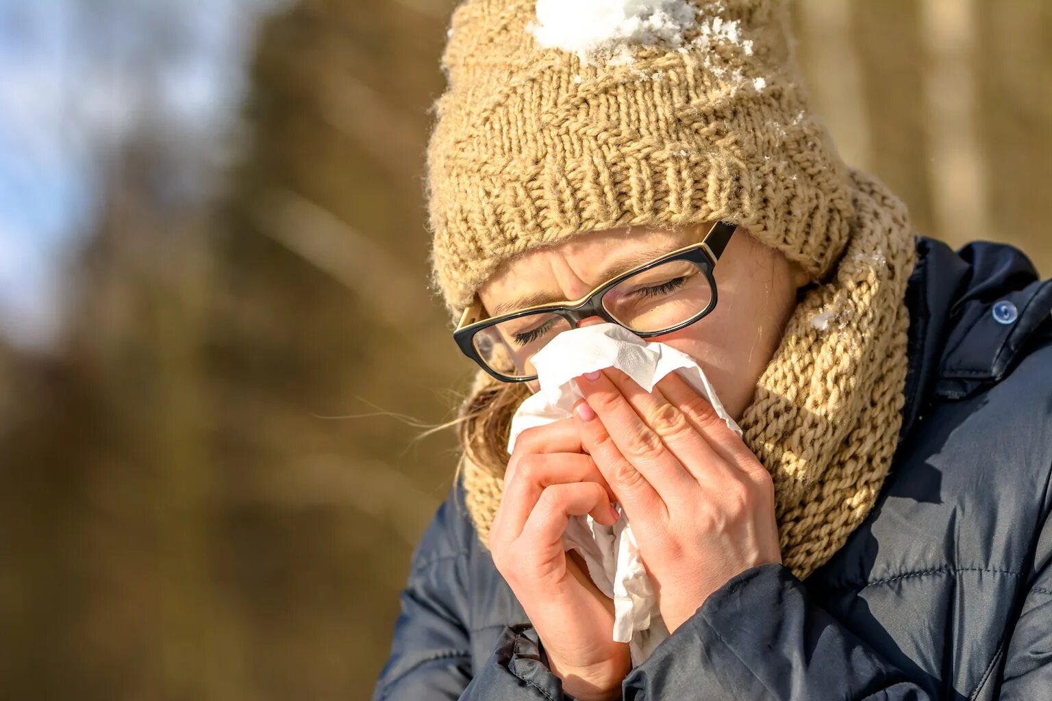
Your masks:
<instances>
[{"instance_id":1,"label":"dark blue jacket sleeve left of the hands, with gathered cuff","mask_svg":"<svg viewBox=\"0 0 1052 701\"><path fill-rule=\"evenodd\" d=\"M504 628L480 669L472 669L468 581L474 530L450 488L412 554L400 593L391 652L371 701L572 701L529 623Z\"/></svg>"}]
</instances>

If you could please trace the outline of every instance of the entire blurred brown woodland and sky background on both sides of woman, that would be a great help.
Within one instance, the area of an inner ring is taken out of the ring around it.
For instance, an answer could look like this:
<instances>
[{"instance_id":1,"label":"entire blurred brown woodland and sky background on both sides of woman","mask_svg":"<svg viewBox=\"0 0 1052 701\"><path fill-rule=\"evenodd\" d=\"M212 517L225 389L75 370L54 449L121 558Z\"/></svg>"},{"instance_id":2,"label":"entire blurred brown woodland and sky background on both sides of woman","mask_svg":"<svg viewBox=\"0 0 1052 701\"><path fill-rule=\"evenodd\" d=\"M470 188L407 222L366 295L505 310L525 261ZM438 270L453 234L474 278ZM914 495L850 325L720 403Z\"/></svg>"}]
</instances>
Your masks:
<instances>
[{"instance_id":1,"label":"entire blurred brown woodland and sky background on both sides of woman","mask_svg":"<svg viewBox=\"0 0 1052 701\"><path fill-rule=\"evenodd\" d=\"M447 0L0 0L0 698L364 699L473 366ZM1052 274L1052 3L792 0L845 160Z\"/></svg>"}]
</instances>

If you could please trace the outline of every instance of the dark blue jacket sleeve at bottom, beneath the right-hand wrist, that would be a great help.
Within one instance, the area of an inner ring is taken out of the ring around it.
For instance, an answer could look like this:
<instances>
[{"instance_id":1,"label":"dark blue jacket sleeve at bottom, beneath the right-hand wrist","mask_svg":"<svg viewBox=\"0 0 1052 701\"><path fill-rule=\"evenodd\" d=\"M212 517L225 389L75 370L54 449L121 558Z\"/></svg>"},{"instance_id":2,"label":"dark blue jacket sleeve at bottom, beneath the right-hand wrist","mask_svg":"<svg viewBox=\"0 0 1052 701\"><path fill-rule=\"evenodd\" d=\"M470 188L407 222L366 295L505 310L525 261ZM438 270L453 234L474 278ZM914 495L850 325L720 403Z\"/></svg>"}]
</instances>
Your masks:
<instances>
[{"instance_id":1,"label":"dark blue jacket sleeve at bottom, beneath the right-hand wrist","mask_svg":"<svg viewBox=\"0 0 1052 701\"><path fill-rule=\"evenodd\" d=\"M777 563L750 568L716 590L622 689L625 701L935 698L812 602Z\"/></svg>"}]
</instances>

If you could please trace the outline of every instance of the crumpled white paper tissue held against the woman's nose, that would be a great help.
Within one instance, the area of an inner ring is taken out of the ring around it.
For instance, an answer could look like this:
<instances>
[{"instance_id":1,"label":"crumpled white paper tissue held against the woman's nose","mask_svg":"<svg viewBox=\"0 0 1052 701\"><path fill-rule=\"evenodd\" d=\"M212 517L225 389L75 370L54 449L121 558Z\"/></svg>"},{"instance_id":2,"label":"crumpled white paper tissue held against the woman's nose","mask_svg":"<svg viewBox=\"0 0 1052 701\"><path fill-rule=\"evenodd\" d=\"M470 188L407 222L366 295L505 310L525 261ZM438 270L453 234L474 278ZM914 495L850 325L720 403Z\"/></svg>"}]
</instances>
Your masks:
<instances>
[{"instance_id":1,"label":"crumpled white paper tissue held against the woman's nose","mask_svg":"<svg viewBox=\"0 0 1052 701\"><path fill-rule=\"evenodd\" d=\"M571 415L573 404L583 396L574 377L609 367L622 370L648 392L658 380L677 370L681 377L709 400L727 426L742 435L742 429L724 409L692 357L663 343L647 342L616 324L593 324L563 331L533 356L532 363L540 390L523 401L511 418L509 453L524 430ZM638 666L669 632L662 620L632 527L620 503L616 508L622 517L612 527L603 525L590 514L570 517L563 543L566 550L581 554L592 581L613 599L613 639L629 643L632 666Z\"/></svg>"}]
</instances>

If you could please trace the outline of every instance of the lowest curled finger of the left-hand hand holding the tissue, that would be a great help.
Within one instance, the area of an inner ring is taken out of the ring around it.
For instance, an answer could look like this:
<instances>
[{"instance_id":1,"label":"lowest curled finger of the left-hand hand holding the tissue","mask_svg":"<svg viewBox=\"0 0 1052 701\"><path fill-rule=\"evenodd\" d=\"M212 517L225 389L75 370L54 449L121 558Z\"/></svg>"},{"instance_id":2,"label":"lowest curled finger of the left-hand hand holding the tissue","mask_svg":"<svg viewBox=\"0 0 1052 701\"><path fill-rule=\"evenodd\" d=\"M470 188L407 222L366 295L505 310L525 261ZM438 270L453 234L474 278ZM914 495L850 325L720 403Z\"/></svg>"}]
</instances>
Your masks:
<instances>
[{"instance_id":1,"label":"lowest curled finger of the left-hand hand holding the tissue","mask_svg":"<svg viewBox=\"0 0 1052 701\"><path fill-rule=\"evenodd\" d=\"M573 482L544 488L522 531L525 542L530 543L528 552L541 558L535 564L547 562L565 551L563 534L570 516L585 514L591 514L606 525L614 521L606 490L599 484Z\"/></svg>"}]
</instances>

